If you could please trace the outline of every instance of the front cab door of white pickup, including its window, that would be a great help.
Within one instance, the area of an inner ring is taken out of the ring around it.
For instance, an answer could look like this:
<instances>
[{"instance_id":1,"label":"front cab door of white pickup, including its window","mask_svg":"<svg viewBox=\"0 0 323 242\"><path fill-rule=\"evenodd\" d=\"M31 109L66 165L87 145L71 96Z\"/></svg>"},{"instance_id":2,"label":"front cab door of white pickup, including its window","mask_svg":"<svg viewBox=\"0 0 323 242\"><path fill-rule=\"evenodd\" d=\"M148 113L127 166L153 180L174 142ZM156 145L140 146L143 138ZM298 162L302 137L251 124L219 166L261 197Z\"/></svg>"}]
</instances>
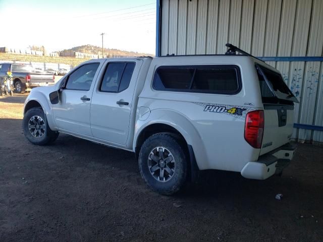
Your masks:
<instances>
[{"instance_id":1,"label":"front cab door of white pickup, including its window","mask_svg":"<svg viewBox=\"0 0 323 242\"><path fill-rule=\"evenodd\" d=\"M92 137L90 106L93 87L104 61L86 63L65 77L60 102L53 104L53 115L59 130Z\"/></svg>"}]
</instances>

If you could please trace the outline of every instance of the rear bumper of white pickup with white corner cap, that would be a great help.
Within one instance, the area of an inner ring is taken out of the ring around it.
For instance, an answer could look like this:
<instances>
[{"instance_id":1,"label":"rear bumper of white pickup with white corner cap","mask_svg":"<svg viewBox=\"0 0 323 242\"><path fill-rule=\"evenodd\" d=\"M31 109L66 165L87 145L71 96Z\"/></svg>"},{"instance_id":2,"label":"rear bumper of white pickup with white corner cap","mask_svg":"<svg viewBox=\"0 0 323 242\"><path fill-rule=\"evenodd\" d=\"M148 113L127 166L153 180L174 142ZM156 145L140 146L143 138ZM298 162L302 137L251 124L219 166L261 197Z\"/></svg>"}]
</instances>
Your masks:
<instances>
[{"instance_id":1,"label":"rear bumper of white pickup with white corner cap","mask_svg":"<svg viewBox=\"0 0 323 242\"><path fill-rule=\"evenodd\" d=\"M269 154L259 156L257 161L248 162L241 175L250 179L266 179L275 173L281 173L294 157L296 144L288 143Z\"/></svg>"}]
</instances>

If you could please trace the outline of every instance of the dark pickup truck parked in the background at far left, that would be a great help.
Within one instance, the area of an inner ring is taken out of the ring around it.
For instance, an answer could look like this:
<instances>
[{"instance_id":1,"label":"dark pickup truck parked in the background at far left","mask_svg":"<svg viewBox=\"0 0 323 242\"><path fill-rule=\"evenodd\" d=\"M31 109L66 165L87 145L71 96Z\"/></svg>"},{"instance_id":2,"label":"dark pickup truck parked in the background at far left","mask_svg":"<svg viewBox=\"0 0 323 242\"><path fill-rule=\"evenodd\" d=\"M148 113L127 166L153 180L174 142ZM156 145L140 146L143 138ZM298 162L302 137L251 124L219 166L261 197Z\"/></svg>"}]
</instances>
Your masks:
<instances>
[{"instance_id":1,"label":"dark pickup truck parked in the background at far left","mask_svg":"<svg viewBox=\"0 0 323 242\"><path fill-rule=\"evenodd\" d=\"M12 72L14 87L17 93L22 93L26 89L33 87L47 86L55 82L52 74L36 72L36 70L27 64L1 63L0 78L7 75L8 71Z\"/></svg>"}]
</instances>

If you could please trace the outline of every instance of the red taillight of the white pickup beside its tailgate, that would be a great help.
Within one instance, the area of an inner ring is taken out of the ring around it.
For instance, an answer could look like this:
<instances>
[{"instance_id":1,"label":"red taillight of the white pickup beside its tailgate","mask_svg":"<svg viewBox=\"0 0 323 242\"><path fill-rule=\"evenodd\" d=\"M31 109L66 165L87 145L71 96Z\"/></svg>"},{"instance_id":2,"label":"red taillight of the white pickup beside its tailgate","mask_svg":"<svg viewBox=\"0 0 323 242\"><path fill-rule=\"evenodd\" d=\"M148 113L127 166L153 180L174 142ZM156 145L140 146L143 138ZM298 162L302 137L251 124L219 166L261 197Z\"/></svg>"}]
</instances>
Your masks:
<instances>
[{"instance_id":1,"label":"red taillight of the white pickup beside its tailgate","mask_svg":"<svg viewBox=\"0 0 323 242\"><path fill-rule=\"evenodd\" d=\"M244 138L253 148L261 148L263 126L263 110L256 110L247 113L244 127Z\"/></svg>"}]
</instances>

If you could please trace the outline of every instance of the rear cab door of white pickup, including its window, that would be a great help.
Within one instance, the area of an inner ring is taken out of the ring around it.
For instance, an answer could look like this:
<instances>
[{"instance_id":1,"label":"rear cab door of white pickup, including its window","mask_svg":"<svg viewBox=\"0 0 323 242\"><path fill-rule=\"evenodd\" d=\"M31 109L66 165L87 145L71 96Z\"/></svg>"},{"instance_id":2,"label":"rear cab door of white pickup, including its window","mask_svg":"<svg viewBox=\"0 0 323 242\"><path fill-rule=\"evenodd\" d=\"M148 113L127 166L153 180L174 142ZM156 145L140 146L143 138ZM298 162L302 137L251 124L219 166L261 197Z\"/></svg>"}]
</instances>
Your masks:
<instances>
[{"instance_id":1,"label":"rear cab door of white pickup, including its window","mask_svg":"<svg viewBox=\"0 0 323 242\"><path fill-rule=\"evenodd\" d=\"M126 144L141 65L142 61L137 59L106 63L91 101L91 130L94 138L107 144Z\"/></svg>"}]
</instances>

